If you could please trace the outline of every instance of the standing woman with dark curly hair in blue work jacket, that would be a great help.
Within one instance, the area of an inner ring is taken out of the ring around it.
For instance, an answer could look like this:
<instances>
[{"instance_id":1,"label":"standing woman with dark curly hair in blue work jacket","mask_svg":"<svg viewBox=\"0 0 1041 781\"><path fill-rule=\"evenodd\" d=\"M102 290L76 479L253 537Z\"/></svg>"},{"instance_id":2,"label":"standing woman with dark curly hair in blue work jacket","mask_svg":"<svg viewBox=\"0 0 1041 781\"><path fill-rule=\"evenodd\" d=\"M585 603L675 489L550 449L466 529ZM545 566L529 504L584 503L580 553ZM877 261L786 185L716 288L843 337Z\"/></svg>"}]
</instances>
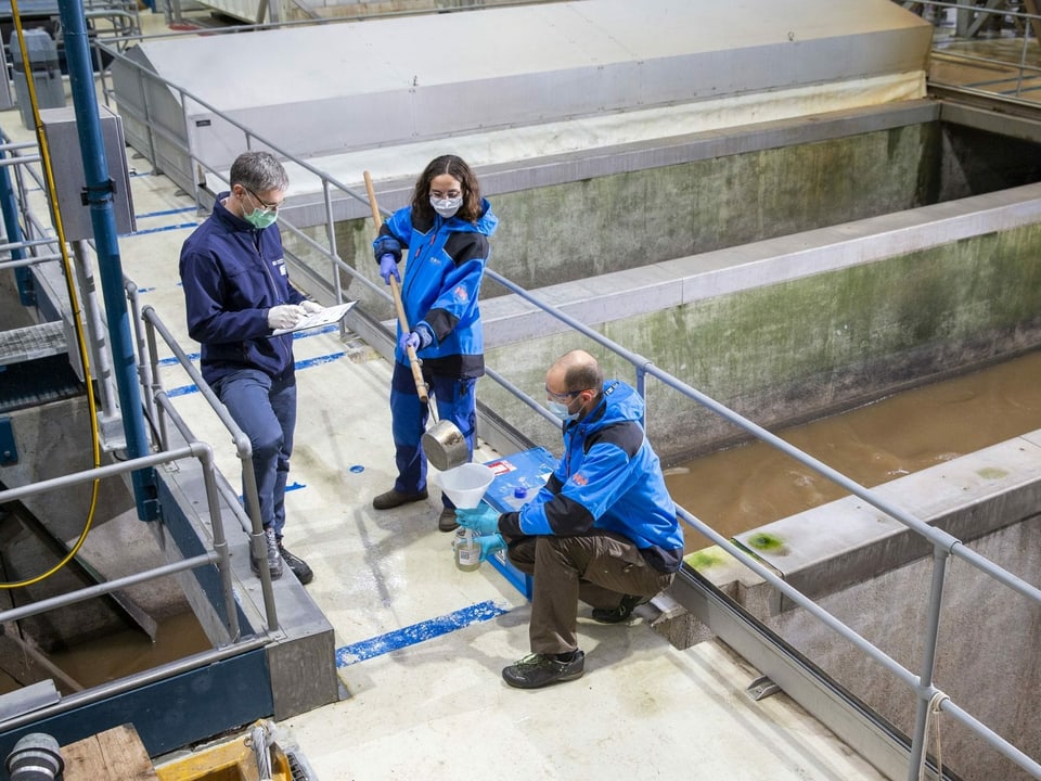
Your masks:
<instances>
[{"instance_id":1,"label":"standing woman with dark curly hair in blue work jacket","mask_svg":"<svg viewBox=\"0 0 1041 781\"><path fill-rule=\"evenodd\" d=\"M477 177L460 157L442 155L426 166L412 202L380 228L373 253L380 276L401 283L401 303L410 331L398 325L390 415L398 476L390 490L372 501L387 510L426 499L426 456L422 436L428 409L420 401L409 367L408 348L422 361L423 379L440 420L455 424L471 458L477 425L474 393L485 373L484 338L477 299L488 263L488 239L499 219L480 196ZM398 264L408 251L404 279ZM455 510L442 496L438 528L458 526Z\"/></svg>"}]
</instances>

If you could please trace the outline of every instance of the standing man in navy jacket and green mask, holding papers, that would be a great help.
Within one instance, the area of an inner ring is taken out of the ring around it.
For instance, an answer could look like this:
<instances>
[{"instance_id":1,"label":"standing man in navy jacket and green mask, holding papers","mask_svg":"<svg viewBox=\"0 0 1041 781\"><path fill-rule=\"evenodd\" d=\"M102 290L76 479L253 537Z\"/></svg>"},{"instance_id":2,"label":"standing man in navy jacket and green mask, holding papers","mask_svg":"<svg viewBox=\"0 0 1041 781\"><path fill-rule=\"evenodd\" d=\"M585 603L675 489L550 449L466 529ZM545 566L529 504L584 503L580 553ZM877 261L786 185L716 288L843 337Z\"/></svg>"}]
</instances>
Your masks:
<instances>
[{"instance_id":1,"label":"standing man in navy jacket and green mask, holding papers","mask_svg":"<svg viewBox=\"0 0 1041 781\"><path fill-rule=\"evenodd\" d=\"M269 152L245 152L231 166L231 190L181 247L188 332L202 345L203 379L249 437L271 577L285 563L301 584L311 568L282 545L285 484L296 428L292 329L322 307L290 284L275 225L290 187ZM253 571L261 560L250 553Z\"/></svg>"}]
</instances>

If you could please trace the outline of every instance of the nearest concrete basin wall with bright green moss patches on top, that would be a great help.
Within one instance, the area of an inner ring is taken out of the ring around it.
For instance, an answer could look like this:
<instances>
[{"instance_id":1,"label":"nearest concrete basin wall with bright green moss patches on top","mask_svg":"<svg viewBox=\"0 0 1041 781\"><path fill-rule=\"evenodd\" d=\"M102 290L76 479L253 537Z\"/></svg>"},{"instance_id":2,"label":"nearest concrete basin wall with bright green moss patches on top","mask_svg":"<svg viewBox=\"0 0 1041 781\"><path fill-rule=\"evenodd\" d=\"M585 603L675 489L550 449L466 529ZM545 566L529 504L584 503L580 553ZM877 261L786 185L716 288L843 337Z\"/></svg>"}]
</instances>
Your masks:
<instances>
[{"instance_id":1,"label":"nearest concrete basin wall with bright green moss patches on top","mask_svg":"<svg viewBox=\"0 0 1041 781\"><path fill-rule=\"evenodd\" d=\"M874 492L1026 582L1041 582L1041 432ZM933 577L931 550L920 536L847 497L735 540L903 667L920 671ZM687 561L883 717L913 731L914 699L881 665L718 548ZM969 563L949 560L935 683L1029 756L1041 752L1034 728L1041 705L1026 695L1041 684L1039 629L1038 605ZM962 778L1028 778L950 718L942 721L942 751L944 767Z\"/></svg>"}]
</instances>

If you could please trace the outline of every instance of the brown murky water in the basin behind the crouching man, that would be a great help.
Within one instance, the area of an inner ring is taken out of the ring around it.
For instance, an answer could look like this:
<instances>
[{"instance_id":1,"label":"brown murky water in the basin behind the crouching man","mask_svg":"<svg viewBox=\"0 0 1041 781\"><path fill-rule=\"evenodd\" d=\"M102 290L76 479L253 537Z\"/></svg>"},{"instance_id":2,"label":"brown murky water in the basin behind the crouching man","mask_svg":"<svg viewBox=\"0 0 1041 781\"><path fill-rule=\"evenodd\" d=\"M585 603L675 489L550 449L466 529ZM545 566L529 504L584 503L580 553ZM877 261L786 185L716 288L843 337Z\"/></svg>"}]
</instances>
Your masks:
<instances>
[{"instance_id":1,"label":"brown murky water in the basin behind the crouching man","mask_svg":"<svg viewBox=\"0 0 1041 781\"><path fill-rule=\"evenodd\" d=\"M870 488L1037 428L1041 353L1030 353L777 436ZM677 503L724 537L846 495L760 441L680 464L666 482ZM689 552L707 545L686 530Z\"/></svg>"}]
</instances>

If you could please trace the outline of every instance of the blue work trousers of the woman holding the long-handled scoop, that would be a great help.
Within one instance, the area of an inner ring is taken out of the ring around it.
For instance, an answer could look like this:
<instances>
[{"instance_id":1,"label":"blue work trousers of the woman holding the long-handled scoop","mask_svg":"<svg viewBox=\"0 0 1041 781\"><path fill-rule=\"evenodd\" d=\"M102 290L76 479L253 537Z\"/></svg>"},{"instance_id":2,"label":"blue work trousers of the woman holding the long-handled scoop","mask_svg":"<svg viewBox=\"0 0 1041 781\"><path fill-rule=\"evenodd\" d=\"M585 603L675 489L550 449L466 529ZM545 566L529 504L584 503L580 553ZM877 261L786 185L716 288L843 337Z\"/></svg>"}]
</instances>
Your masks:
<instances>
[{"instance_id":1,"label":"blue work trousers of the woman holding the long-handled scoop","mask_svg":"<svg viewBox=\"0 0 1041 781\"><path fill-rule=\"evenodd\" d=\"M434 374L425 368L423 379L430 400L437 405L438 420L455 424L466 439L467 460L473 459L477 430L477 380ZM427 405L420 401L415 390L412 369L407 363L395 361L394 376L390 379L390 420L398 478L394 488L401 494L419 494L426 488L426 453L423 452L422 438L428 415ZM441 502L447 508L454 507L444 495Z\"/></svg>"}]
</instances>

